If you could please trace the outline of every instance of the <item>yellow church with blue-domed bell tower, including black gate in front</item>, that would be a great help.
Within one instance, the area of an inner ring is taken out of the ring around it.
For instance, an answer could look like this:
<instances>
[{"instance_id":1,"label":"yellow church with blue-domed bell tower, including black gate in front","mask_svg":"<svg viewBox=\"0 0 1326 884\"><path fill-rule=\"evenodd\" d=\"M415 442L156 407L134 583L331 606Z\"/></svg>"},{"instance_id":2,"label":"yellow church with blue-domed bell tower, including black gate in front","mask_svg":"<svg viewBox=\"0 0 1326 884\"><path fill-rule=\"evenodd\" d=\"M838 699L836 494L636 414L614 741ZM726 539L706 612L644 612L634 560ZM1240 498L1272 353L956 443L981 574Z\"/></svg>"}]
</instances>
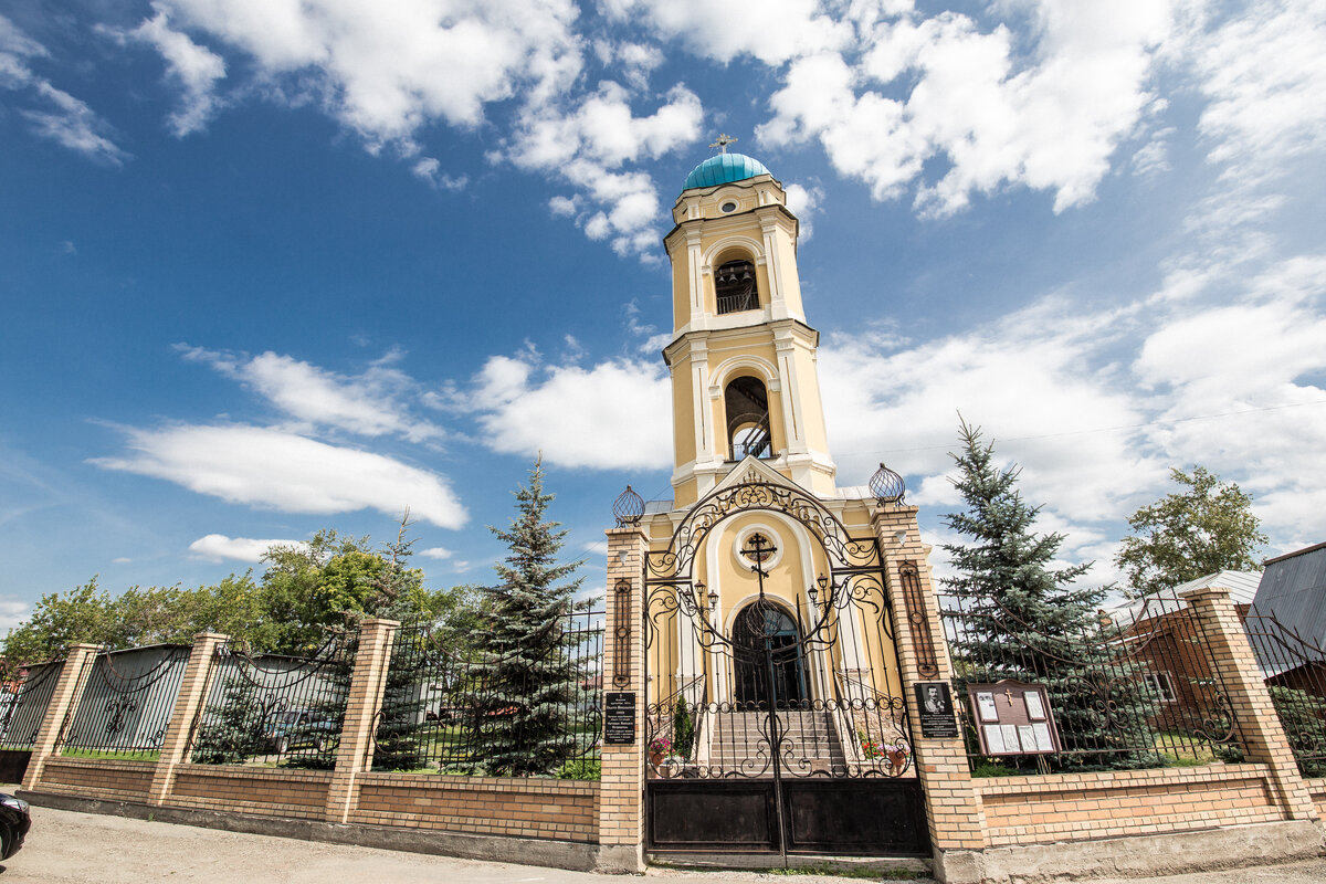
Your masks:
<instances>
[{"instance_id":1,"label":"yellow church with blue-domed bell tower, including black gate in front","mask_svg":"<svg viewBox=\"0 0 1326 884\"><path fill-rule=\"evenodd\" d=\"M927 852L906 694L937 669L900 663L894 604L928 591L915 508L883 467L837 484L780 182L721 152L672 216L674 498L618 501L644 545L648 843Z\"/></svg>"}]
</instances>

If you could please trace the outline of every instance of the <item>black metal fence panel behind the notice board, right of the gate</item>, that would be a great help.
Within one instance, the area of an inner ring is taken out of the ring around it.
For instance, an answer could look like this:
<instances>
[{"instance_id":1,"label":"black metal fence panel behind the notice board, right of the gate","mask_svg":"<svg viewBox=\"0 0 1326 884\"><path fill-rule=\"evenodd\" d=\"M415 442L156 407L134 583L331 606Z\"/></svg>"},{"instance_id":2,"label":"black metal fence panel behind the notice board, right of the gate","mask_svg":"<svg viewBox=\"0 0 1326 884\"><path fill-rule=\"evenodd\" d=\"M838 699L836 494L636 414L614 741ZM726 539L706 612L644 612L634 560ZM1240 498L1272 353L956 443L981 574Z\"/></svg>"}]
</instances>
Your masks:
<instances>
[{"instance_id":1,"label":"black metal fence panel behind the notice board, right of the gate","mask_svg":"<svg viewBox=\"0 0 1326 884\"><path fill-rule=\"evenodd\" d=\"M1151 595L1087 624L1037 628L997 599L941 596L955 705L977 774L1187 766L1242 758L1223 673L1188 604ZM1048 689L1058 751L984 754L968 684Z\"/></svg>"}]
</instances>

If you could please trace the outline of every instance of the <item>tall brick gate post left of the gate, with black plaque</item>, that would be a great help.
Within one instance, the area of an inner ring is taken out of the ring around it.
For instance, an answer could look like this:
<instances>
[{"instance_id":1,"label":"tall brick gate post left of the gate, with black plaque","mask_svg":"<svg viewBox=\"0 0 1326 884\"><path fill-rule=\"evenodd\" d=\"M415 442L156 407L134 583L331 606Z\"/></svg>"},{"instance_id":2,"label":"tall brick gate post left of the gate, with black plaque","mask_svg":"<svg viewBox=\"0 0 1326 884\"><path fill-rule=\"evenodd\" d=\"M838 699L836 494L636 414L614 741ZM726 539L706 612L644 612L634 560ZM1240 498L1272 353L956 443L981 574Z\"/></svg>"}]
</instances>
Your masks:
<instances>
[{"instance_id":1,"label":"tall brick gate post left of the gate, with black plaque","mask_svg":"<svg viewBox=\"0 0 1326 884\"><path fill-rule=\"evenodd\" d=\"M635 740L602 744L598 793L599 872L644 871L644 555L635 526L607 531L607 596L603 624L603 692L635 696Z\"/></svg>"}]
</instances>

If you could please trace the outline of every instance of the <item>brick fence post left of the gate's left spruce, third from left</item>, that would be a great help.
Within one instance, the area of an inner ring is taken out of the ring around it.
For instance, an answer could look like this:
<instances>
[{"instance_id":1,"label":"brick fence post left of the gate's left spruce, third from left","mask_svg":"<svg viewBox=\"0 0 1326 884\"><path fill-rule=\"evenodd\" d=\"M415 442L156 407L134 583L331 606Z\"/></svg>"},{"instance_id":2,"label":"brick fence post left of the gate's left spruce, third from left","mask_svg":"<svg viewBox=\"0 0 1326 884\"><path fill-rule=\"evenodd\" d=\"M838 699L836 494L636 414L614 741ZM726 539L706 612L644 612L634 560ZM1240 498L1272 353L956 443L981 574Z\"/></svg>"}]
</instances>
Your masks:
<instances>
[{"instance_id":1,"label":"brick fence post left of the gate's left spruce, third from left","mask_svg":"<svg viewBox=\"0 0 1326 884\"><path fill-rule=\"evenodd\" d=\"M350 673L345 725L335 750L335 770L328 786L326 820L345 823L354 810L355 778L373 769L373 728L387 687L391 641L396 620L365 620L359 624L359 649Z\"/></svg>"}]
</instances>

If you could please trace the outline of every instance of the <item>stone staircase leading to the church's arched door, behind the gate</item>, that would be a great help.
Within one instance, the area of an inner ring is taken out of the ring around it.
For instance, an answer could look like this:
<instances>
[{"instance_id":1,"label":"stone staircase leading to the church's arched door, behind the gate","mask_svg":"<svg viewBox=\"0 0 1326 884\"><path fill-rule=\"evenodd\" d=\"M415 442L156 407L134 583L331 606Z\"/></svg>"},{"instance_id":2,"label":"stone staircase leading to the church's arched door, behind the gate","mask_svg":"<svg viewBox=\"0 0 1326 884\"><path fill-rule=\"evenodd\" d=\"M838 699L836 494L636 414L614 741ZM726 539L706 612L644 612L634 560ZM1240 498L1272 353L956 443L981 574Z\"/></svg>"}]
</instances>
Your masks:
<instances>
[{"instance_id":1,"label":"stone staircase leading to the church's arched door, behind the gate","mask_svg":"<svg viewBox=\"0 0 1326 884\"><path fill-rule=\"evenodd\" d=\"M814 770L843 769L847 759L830 716L827 712L800 709L778 712L778 724L784 730L781 763L785 767L793 767L802 775ZM709 724L713 726L709 767L773 775L766 745L769 713L724 712L712 716Z\"/></svg>"}]
</instances>

